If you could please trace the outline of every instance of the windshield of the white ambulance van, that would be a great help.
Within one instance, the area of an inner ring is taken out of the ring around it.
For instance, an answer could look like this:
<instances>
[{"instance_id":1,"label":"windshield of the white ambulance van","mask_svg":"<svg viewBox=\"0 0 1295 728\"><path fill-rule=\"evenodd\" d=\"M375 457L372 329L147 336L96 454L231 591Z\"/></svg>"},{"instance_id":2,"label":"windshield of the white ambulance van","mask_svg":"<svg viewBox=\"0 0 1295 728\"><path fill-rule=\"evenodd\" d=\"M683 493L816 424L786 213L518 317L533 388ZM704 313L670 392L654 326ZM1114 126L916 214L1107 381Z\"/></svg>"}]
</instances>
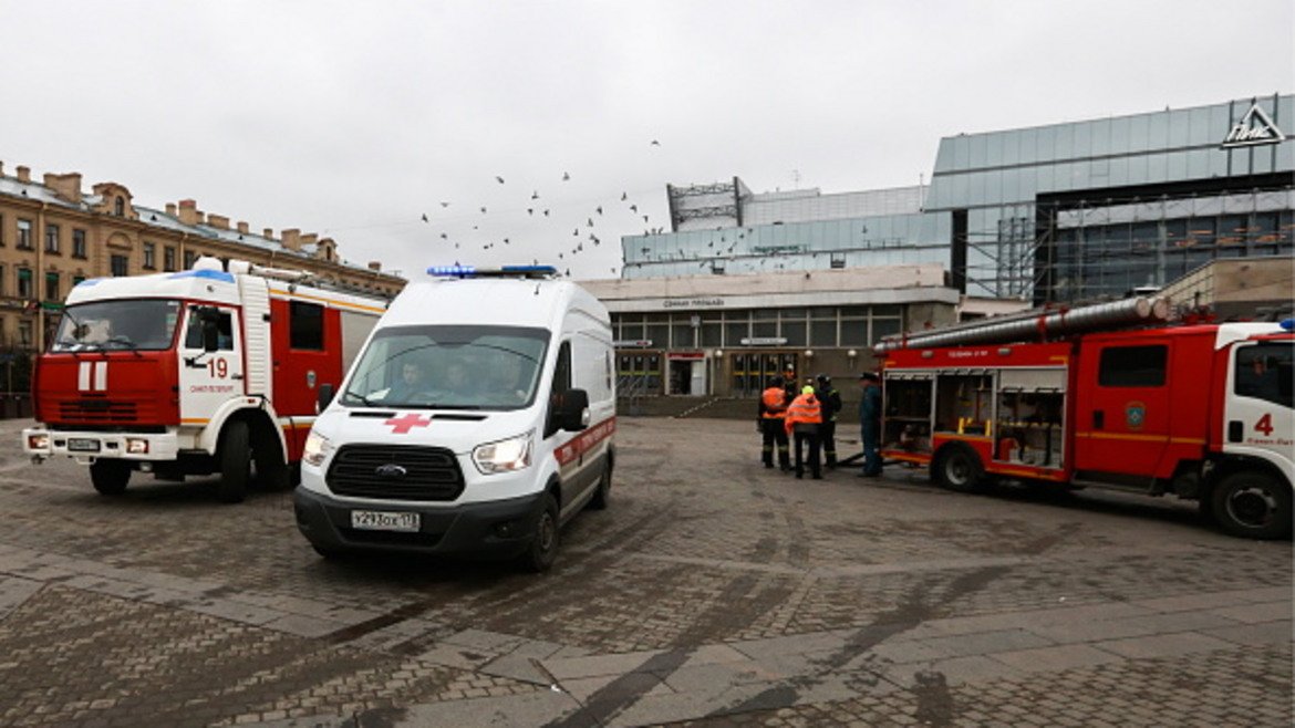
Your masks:
<instances>
[{"instance_id":1,"label":"windshield of the white ambulance van","mask_svg":"<svg viewBox=\"0 0 1295 728\"><path fill-rule=\"evenodd\" d=\"M535 399L549 332L522 326L392 326L356 364L343 405L521 409Z\"/></svg>"}]
</instances>

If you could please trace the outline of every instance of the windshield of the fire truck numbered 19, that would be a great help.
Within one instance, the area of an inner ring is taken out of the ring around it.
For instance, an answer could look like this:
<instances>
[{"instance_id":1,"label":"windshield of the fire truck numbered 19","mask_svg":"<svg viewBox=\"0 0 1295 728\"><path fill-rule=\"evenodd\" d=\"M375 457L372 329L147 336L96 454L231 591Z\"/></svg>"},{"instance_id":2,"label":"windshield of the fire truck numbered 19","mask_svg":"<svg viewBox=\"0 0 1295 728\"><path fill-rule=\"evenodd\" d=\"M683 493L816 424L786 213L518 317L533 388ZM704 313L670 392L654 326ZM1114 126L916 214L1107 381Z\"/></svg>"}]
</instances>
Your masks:
<instances>
[{"instance_id":1,"label":"windshield of the fire truck numbered 19","mask_svg":"<svg viewBox=\"0 0 1295 728\"><path fill-rule=\"evenodd\" d=\"M51 351L161 351L171 348L179 301L126 299L79 303L63 310Z\"/></svg>"}]
</instances>

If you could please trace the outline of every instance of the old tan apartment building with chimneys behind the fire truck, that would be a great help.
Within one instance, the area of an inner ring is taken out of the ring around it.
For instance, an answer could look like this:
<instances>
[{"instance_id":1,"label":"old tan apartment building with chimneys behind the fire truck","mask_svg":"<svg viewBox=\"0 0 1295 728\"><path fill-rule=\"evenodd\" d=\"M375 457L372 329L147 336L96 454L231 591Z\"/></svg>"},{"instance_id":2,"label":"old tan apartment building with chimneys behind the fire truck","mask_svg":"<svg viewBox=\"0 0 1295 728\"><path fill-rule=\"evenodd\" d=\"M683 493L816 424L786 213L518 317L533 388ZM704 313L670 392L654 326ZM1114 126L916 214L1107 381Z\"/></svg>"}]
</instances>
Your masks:
<instances>
[{"instance_id":1,"label":"old tan apartment building with chimneys behind the fire truck","mask_svg":"<svg viewBox=\"0 0 1295 728\"><path fill-rule=\"evenodd\" d=\"M0 162L0 347L43 346L61 302L85 279L181 271L201 255L304 269L355 291L392 297L404 280L344 262L333 238L285 229L253 232L247 223L207 214L193 199L155 210L126 185L82 189L82 175L28 167L10 175Z\"/></svg>"}]
</instances>

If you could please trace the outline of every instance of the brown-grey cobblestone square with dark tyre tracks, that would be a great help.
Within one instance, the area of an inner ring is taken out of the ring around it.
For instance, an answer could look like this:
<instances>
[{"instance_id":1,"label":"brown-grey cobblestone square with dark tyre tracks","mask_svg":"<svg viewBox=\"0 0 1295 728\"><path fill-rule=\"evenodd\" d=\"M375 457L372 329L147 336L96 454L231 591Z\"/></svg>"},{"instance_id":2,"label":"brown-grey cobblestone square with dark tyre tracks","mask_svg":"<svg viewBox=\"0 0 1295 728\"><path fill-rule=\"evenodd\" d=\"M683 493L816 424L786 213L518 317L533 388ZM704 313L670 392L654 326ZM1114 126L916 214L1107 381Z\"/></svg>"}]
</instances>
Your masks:
<instances>
[{"instance_id":1,"label":"brown-grey cobblestone square with dark tyre tracks","mask_svg":"<svg viewBox=\"0 0 1295 728\"><path fill-rule=\"evenodd\" d=\"M1290 541L1190 508L796 481L623 418L558 565L320 560L291 496L95 494L0 422L3 725L1290 725ZM848 449L848 448L842 448Z\"/></svg>"}]
</instances>

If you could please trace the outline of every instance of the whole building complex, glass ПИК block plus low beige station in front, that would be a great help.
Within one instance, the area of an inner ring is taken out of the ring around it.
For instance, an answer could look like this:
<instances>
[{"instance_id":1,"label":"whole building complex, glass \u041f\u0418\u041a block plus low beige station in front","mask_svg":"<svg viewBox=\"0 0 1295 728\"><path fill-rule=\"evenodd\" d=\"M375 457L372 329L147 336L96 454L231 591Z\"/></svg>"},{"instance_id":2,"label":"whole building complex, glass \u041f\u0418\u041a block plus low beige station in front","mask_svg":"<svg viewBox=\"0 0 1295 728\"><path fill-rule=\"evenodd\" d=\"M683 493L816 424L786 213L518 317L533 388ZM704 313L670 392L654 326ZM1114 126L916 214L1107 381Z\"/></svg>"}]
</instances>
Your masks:
<instances>
[{"instance_id":1,"label":"whole building complex, glass \u041f\u0418\u041a block plus low beige station in front","mask_svg":"<svg viewBox=\"0 0 1295 728\"><path fill-rule=\"evenodd\" d=\"M1286 294L1264 303L1289 303L1291 132L1295 96L1272 95L948 136L925 185L667 185L670 229L622 238L620 280L584 285L613 312L623 378L729 396L789 364L874 368L872 345L901 330L1120 298L1229 259L1268 260L1247 268Z\"/></svg>"}]
</instances>

